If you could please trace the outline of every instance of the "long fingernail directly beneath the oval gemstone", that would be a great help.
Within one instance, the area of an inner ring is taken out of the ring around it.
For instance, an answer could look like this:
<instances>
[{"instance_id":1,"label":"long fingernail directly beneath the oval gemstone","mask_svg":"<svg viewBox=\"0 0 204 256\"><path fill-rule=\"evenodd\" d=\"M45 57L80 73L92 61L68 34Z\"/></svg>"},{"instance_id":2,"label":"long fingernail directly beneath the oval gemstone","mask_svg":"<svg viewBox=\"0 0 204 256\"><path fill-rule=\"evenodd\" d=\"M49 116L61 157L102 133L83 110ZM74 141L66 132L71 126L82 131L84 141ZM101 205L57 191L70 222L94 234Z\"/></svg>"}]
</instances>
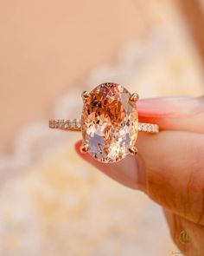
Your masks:
<instances>
[{"instance_id":1,"label":"long fingernail directly beneath the oval gemstone","mask_svg":"<svg viewBox=\"0 0 204 256\"><path fill-rule=\"evenodd\" d=\"M104 174L110 176L113 180L122 183L126 187L139 189L145 192L145 173L143 161L138 155L127 155L123 160L116 163L101 163L94 160L90 154L80 153L81 141L75 144L76 152L85 161L99 169Z\"/></svg>"}]
</instances>

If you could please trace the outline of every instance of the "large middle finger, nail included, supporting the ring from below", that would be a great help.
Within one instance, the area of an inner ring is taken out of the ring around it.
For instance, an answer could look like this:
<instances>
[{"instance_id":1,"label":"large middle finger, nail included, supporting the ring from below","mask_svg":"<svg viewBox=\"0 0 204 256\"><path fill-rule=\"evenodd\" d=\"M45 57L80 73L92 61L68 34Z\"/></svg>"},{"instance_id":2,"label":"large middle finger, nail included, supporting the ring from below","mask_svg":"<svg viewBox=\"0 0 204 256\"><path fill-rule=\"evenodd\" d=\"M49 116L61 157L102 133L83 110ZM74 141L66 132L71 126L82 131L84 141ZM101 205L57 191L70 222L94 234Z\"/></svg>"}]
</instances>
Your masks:
<instances>
[{"instance_id":1,"label":"large middle finger, nail included, supporting the ring from below","mask_svg":"<svg viewBox=\"0 0 204 256\"><path fill-rule=\"evenodd\" d=\"M80 154L127 187L143 190L163 207L204 225L204 135L163 131L141 134L139 153L118 163L103 164Z\"/></svg>"}]
</instances>

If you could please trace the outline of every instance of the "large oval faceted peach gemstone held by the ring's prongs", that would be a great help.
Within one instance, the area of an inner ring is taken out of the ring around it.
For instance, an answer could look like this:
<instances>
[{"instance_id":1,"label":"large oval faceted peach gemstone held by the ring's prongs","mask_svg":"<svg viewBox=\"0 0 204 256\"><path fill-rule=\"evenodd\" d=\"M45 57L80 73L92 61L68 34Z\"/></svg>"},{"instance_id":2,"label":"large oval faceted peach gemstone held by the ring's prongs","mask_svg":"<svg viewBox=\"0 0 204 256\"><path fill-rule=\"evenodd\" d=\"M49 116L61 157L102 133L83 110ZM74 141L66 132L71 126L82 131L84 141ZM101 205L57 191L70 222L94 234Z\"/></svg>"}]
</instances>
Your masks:
<instances>
[{"instance_id":1,"label":"large oval faceted peach gemstone held by the ring's prongs","mask_svg":"<svg viewBox=\"0 0 204 256\"><path fill-rule=\"evenodd\" d=\"M123 159L137 140L136 105L129 102L131 94L117 83L103 83L92 90L84 102L81 116L83 140L88 152L98 161Z\"/></svg>"}]
</instances>

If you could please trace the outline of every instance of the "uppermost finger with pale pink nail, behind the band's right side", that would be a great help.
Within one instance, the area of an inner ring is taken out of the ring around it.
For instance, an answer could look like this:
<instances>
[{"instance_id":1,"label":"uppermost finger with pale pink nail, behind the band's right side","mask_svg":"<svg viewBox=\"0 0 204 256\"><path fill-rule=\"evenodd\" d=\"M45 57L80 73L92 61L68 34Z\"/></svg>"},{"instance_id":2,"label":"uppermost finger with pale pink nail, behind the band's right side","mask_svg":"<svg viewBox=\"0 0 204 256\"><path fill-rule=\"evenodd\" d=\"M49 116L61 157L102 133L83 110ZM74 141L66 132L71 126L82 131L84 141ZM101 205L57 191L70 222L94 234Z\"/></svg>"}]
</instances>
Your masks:
<instances>
[{"instance_id":1,"label":"uppermost finger with pale pink nail, behind the band's right side","mask_svg":"<svg viewBox=\"0 0 204 256\"><path fill-rule=\"evenodd\" d=\"M157 123L161 130L204 133L204 97L167 97L137 102L139 121Z\"/></svg>"}]
</instances>

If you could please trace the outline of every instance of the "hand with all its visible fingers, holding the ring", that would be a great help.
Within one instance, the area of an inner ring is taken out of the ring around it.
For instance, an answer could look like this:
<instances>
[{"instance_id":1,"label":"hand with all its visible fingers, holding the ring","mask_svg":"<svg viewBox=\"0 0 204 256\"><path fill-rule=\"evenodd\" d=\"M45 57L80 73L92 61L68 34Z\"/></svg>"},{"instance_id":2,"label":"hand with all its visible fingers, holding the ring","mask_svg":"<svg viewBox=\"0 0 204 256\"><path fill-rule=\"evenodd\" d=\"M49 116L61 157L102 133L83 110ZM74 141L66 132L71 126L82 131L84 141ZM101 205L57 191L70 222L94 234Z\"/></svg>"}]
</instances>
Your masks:
<instances>
[{"instance_id":1,"label":"hand with all its visible fingers, holding the ring","mask_svg":"<svg viewBox=\"0 0 204 256\"><path fill-rule=\"evenodd\" d=\"M139 121L159 124L157 135L140 133L137 155L102 164L76 151L124 186L138 189L163 207L170 234L185 255L204 255L204 97L137 102ZM188 231L188 242L181 242Z\"/></svg>"}]
</instances>

